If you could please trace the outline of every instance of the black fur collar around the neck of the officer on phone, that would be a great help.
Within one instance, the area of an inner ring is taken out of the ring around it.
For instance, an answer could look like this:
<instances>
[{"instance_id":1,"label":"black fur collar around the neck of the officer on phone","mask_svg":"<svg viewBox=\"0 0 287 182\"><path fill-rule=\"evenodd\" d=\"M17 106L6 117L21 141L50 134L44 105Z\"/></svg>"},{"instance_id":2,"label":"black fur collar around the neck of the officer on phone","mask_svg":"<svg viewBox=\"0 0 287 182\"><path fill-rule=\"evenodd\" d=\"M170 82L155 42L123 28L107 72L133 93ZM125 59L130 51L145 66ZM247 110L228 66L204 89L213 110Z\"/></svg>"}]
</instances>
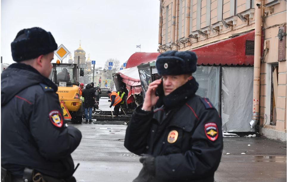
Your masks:
<instances>
[{"instance_id":1,"label":"black fur collar around the neck of the officer on phone","mask_svg":"<svg viewBox=\"0 0 287 182\"><path fill-rule=\"evenodd\" d=\"M195 78L192 77L183 86L178 87L173 92L167 96L160 97L156 103L157 107L164 105L167 109L172 109L175 107L180 107L185 104L188 99L195 96L195 92L198 89L199 84L196 82Z\"/></svg>"}]
</instances>

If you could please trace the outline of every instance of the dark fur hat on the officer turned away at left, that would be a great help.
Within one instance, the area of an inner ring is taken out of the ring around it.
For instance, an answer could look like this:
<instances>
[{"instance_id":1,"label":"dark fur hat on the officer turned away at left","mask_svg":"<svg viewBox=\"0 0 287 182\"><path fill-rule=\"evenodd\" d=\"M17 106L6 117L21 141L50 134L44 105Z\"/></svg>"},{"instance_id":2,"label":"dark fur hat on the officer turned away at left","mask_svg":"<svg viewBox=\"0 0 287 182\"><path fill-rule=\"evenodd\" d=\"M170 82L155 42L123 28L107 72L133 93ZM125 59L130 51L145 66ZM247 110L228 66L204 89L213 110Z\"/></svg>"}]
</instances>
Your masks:
<instances>
[{"instance_id":1,"label":"dark fur hat on the officer turned away at left","mask_svg":"<svg viewBox=\"0 0 287 182\"><path fill-rule=\"evenodd\" d=\"M20 30L11 43L12 57L16 62L52 53L57 48L51 32L39 27Z\"/></svg>"}]
</instances>

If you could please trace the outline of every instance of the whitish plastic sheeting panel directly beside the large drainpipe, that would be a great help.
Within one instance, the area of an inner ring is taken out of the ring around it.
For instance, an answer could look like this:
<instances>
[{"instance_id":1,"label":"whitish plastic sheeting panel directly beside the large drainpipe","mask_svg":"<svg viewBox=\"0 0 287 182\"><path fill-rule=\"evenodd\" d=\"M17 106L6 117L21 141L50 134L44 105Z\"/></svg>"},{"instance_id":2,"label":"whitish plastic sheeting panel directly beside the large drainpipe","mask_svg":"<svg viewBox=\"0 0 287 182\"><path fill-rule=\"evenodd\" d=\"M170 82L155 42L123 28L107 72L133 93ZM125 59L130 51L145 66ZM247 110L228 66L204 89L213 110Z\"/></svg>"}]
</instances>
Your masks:
<instances>
[{"instance_id":1,"label":"whitish plastic sheeting panel directly beside the large drainpipe","mask_svg":"<svg viewBox=\"0 0 287 182\"><path fill-rule=\"evenodd\" d=\"M222 67L222 130L254 132L252 119L253 67Z\"/></svg>"}]
</instances>

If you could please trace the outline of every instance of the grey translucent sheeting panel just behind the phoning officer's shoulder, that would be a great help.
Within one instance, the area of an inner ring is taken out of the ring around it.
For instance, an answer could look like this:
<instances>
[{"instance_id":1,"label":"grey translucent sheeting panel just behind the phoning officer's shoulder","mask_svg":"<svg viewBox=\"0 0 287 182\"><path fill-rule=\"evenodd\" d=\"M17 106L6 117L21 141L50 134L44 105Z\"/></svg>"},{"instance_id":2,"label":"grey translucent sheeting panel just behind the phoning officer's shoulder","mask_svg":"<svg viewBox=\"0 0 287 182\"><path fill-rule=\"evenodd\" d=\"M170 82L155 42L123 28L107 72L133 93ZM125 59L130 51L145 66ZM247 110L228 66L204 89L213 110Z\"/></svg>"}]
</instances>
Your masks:
<instances>
[{"instance_id":1,"label":"grey translucent sheeting panel just behind the phoning officer's shoulder","mask_svg":"<svg viewBox=\"0 0 287 182\"><path fill-rule=\"evenodd\" d=\"M220 67L198 66L192 75L199 83L196 95L207 97L213 106L218 110L219 102L219 72Z\"/></svg>"}]
</instances>

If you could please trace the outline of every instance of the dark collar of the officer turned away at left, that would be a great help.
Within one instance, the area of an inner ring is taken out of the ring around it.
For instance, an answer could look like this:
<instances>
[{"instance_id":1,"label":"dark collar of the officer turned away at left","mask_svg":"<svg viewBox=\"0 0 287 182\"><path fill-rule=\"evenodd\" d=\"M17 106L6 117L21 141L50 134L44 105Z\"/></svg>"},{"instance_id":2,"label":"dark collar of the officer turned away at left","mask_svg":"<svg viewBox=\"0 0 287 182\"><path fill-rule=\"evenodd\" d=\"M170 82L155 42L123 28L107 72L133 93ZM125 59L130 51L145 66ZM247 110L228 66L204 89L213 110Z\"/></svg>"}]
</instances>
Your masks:
<instances>
[{"instance_id":1,"label":"dark collar of the officer turned away at left","mask_svg":"<svg viewBox=\"0 0 287 182\"><path fill-rule=\"evenodd\" d=\"M55 85L52 80L44 77L43 75L41 75L35 68L33 68L32 66L28 65L28 64L23 64L23 63L13 63L9 66L9 68L17 68L17 69L24 69L33 73L36 73L39 75L39 81L40 83L43 83L45 85L47 85L48 87L51 87L54 92L56 92L58 90L58 86Z\"/></svg>"}]
</instances>

